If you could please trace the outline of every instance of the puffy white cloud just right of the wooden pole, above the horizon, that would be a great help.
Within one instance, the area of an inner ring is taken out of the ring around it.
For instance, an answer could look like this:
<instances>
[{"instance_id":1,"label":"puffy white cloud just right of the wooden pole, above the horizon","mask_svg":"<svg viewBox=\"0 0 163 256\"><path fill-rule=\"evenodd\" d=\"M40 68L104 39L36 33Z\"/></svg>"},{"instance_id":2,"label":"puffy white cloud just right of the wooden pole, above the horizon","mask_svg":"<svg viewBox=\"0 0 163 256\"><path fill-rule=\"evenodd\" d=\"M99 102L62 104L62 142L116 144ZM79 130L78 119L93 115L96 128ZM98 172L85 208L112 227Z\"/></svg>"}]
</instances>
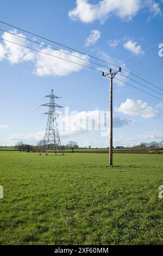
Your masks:
<instances>
[{"instance_id":1,"label":"puffy white cloud just right of the wooden pole, above the horizon","mask_svg":"<svg viewBox=\"0 0 163 256\"><path fill-rule=\"evenodd\" d=\"M115 111L131 116L141 116L145 119L152 119L159 115L159 112L155 108L149 107L146 102L131 99L122 102L120 107L115 107Z\"/></svg>"}]
</instances>

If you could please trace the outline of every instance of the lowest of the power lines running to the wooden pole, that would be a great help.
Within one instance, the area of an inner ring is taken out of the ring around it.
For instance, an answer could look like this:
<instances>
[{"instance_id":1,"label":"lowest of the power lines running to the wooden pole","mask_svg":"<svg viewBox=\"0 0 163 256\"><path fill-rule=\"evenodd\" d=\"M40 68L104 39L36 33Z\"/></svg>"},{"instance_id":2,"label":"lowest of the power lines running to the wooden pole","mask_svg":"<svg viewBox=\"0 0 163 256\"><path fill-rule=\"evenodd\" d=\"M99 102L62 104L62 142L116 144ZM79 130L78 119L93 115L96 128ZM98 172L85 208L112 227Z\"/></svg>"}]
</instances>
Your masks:
<instances>
[{"instance_id":1,"label":"lowest of the power lines running to the wooden pole","mask_svg":"<svg viewBox=\"0 0 163 256\"><path fill-rule=\"evenodd\" d=\"M34 49L34 48L32 48L32 47L29 47L29 46L24 46L24 45L21 45L21 44L17 44L16 42L12 42L12 41L9 41L9 40L3 39L3 38L0 38L0 39L1 39L1 40L4 40L4 41L8 41L8 42L10 42L11 44L19 45L19 46L22 46L22 47L24 47L24 48L28 48L28 49L33 50L33 51L36 51L36 52L40 52L40 53L46 54L46 55L48 55L48 56L52 56L52 57L65 60L65 61L70 62L70 63L73 63L73 64L77 64L77 65L80 65L80 66L84 66L85 68L88 68L88 69L92 69L92 70L95 70L95 71L99 71L99 72L101 72L101 73L103 72L102 70L95 69L95 68L91 68L90 66L86 66L86 65L79 64L79 63L76 63L76 62L72 62L71 60L67 60L67 59L64 59L64 58L60 58L60 57L58 57L58 56L54 56L53 54L49 54L49 53L46 53L46 52L42 52L42 51L36 50L36 49ZM124 76L124 75L123 75L123 76ZM127 76L126 76L126 77L127 77ZM128 77L127 77L127 78L128 78ZM120 79L118 79L118 78L116 78L116 79L119 80L119 81L121 81L121 82L123 82L123 83L128 84L127 82L124 82L123 80L120 80ZM129 85L130 85L130 84L129 84ZM130 86L131 86L131 85L130 85ZM137 87L135 87L135 86L132 86L132 87L134 87L134 88L136 88L136 89L138 89L138 90L141 90L141 89L139 89L139 88L137 88ZM147 87L147 88L150 89L149 87ZM147 92L145 92L145 91L143 91L143 90L141 90L141 92L147 93ZM156 92L156 91L155 91L155 92ZM163 101L163 100L160 99L159 97L156 97L156 96L154 96L154 95L152 95L152 94L149 94L149 93L147 93L147 94L148 94L148 95L151 95L151 96L153 96L153 97L155 97L156 99L159 99L159 100Z\"/></svg>"}]
</instances>

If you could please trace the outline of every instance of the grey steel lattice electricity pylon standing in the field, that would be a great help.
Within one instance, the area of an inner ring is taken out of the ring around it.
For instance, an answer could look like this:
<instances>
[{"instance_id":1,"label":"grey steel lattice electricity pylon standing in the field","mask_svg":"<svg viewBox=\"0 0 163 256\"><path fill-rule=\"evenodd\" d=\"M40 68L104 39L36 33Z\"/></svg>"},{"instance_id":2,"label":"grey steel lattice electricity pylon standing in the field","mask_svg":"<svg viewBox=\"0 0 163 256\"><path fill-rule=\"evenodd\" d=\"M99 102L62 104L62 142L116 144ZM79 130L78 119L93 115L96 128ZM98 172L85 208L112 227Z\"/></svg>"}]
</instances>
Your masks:
<instances>
[{"instance_id":1,"label":"grey steel lattice electricity pylon standing in the field","mask_svg":"<svg viewBox=\"0 0 163 256\"><path fill-rule=\"evenodd\" d=\"M48 115L48 120L45 136L40 149L40 155L45 149L46 155L48 154L48 149L54 149L55 155L57 155L57 149L59 149L62 155L64 155L57 127L57 113L55 112L56 107L61 108L61 106L55 103L55 100L59 99L59 97L54 95L53 89L51 90L51 94L45 97L49 98L49 103L42 104L41 106L49 107L49 111L44 113Z\"/></svg>"}]
</instances>

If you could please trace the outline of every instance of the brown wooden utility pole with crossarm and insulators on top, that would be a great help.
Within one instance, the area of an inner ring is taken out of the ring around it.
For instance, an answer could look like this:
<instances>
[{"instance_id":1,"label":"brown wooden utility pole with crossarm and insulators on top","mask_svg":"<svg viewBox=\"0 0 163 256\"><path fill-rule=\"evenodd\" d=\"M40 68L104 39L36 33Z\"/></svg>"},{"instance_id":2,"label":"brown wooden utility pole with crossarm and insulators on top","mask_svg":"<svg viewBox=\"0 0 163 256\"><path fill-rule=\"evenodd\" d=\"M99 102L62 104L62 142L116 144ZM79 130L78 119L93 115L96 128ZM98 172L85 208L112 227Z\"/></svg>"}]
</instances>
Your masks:
<instances>
[{"instance_id":1,"label":"brown wooden utility pole with crossarm and insulators on top","mask_svg":"<svg viewBox=\"0 0 163 256\"><path fill-rule=\"evenodd\" d=\"M109 166L112 166L112 80L113 78L121 72L121 68L119 71L112 72L110 69L110 74L105 74L103 72L102 76L108 76L110 78L110 109L109 109L109 117L110 117L110 143L109 143Z\"/></svg>"}]
</instances>

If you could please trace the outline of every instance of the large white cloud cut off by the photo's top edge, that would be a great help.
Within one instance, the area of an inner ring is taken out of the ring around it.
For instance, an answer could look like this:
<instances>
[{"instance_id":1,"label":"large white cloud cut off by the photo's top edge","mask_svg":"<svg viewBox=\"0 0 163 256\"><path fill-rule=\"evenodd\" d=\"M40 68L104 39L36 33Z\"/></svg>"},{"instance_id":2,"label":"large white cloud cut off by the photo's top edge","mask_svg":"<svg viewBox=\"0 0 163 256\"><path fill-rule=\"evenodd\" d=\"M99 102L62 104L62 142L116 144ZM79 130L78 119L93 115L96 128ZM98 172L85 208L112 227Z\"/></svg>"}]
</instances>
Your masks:
<instances>
[{"instance_id":1,"label":"large white cloud cut off by the photo's top edge","mask_svg":"<svg viewBox=\"0 0 163 256\"><path fill-rule=\"evenodd\" d=\"M91 4L88 0L77 0L76 7L68 12L72 20L91 23L95 20L104 23L111 16L123 21L131 20L140 10L147 9L153 16L160 16L159 4L153 0L101 0Z\"/></svg>"}]
</instances>

